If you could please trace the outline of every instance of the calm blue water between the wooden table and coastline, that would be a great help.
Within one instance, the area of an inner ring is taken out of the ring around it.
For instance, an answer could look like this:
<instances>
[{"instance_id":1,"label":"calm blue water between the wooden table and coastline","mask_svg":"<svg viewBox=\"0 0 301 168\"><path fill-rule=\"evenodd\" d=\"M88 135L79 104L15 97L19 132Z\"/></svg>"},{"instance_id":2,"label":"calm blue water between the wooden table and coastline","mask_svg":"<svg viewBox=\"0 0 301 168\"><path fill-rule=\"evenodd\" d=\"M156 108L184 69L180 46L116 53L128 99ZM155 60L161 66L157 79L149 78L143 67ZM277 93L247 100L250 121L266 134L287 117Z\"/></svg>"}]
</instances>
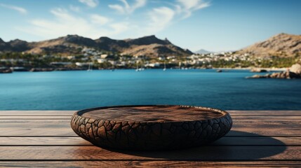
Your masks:
<instances>
[{"instance_id":1,"label":"calm blue water between the wooden table and coastline","mask_svg":"<svg viewBox=\"0 0 301 168\"><path fill-rule=\"evenodd\" d=\"M301 80L245 78L252 75L213 69L0 74L0 110L79 110L123 104L301 110Z\"/></svg>"}]
</instances>

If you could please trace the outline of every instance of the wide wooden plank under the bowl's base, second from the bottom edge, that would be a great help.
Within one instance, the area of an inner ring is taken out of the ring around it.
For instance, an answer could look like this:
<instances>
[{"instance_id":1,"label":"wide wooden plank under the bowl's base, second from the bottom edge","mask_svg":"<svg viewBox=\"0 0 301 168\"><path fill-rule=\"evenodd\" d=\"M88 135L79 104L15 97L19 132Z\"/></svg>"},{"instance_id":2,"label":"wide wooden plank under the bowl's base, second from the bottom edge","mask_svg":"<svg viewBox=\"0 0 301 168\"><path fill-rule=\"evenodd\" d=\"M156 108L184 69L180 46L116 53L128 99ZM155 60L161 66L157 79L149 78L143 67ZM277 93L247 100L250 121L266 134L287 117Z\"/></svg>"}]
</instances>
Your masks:
<instances>
[{"instance_id":1,"label":"wide wooden plank under the bowl's base, second from the bottom edge","mask_svg":"<svg viewBox=\"0 0 301 168\"><path fill-rule=\"evenodd\" d=\"M201 146L108 151L97 146L0 146L0 160L301 160L301 146Z\"/></svg>"}]
</instances>

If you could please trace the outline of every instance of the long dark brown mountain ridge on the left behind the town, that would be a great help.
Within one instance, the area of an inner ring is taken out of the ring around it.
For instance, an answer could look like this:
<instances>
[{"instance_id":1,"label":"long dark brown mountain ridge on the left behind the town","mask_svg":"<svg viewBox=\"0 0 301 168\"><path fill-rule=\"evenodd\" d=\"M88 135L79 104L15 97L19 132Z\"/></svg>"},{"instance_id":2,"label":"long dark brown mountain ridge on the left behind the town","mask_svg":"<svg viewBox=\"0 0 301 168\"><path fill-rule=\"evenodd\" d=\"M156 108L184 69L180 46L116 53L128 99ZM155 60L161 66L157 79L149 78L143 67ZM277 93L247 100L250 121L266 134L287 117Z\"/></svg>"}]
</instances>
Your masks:
<instances>
[{"instance_id":1,"label":"long dark brown mountain ridge on the left behind the town","mask_svg":"<svg viewBox=\"0 0 301 168\"><path fill-rule=\"evenodd\" d=\"M115 40L109 37L100 37L93 40L77 35L67 35L31 43L20 41L19 39L8 43L0 41L0 51L70 55L81 53L82 48L95 48L97 50L119 52L125 55L146 55L149 57L192 55L191 51L173 45L168 39L161 40L156 38L154 35L125 40Z\"/></svg>"}]
</instances>

